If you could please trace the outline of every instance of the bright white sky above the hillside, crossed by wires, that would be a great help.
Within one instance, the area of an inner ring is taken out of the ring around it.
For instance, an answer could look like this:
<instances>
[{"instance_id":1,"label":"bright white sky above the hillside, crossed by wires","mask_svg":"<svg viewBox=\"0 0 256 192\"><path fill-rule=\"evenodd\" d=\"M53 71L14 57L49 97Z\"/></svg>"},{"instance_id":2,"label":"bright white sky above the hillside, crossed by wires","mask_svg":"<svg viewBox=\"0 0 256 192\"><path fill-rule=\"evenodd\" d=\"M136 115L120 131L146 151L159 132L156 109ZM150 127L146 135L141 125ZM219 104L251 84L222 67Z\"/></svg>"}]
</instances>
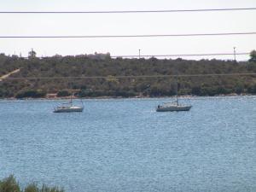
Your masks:
<instances>
[{"instance_id":1,"label":"bright white sky above the hillside, crossed by wires","mask_svg":"<svg viewBox=\"0 0 256 192\"><path fill-rule=\"evenodd\" d=\"M106 11L154 9L256 8L255 0L0 0L0 11ZM256 10L148 14L6 15L0 36L137 35L256 32ZM111 55L183 55L250 52L256 35L166 38L0 38L0 53L38 56L107 53ZM185 57L211 59L212 56ZM233 55L214 56L233 59ZM237 55L244 61L248 55Z\"/></svg>"}]
</instances>

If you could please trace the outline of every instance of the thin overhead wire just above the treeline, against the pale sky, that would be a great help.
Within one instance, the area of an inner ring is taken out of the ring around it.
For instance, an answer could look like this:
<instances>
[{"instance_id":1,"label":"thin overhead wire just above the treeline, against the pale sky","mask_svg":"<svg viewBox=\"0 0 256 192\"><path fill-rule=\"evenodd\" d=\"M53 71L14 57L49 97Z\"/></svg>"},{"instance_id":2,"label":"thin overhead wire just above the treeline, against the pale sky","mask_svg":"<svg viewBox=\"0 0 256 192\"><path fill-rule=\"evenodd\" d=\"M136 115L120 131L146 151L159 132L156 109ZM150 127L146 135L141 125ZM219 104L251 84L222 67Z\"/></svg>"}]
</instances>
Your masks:
<instances>
[{"instance_id":1,"label":"thin overhead wire just above the treeline, against the pale sky","mask_svg":"<svg viewBox=\"0 0 256 192\"><path fill-rule=\"evenodd\" d=\"M249 55L250 53L236 53L236 55ZM165 57L165 56L214 56L214 55L234 55L234 53L212 53L212 54L174 54L174 55L140 55L141 57ZM111 55L112 58L117 57L138 57L138 55Z\"/></svg>"}]
</instances>

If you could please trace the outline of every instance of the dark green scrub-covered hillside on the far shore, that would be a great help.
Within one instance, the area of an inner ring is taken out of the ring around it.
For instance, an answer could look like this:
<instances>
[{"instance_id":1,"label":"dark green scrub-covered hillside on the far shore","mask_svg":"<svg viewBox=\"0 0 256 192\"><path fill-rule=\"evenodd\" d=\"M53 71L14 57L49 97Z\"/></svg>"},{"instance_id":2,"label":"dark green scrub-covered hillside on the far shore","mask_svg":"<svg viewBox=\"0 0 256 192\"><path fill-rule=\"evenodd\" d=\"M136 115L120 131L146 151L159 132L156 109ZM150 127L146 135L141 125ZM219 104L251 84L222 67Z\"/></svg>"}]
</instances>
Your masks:
<instances>
[{"instance_id":1,"label":"dark green scrub-covered hillside on the far shore","mask_svg":"<svg viewBox=\"0 0 256 192\"><path fill-rule=\"evenodd\" d=\"M159 60L112 59L109 54L76 55L38 58L31 51L28 58L16 55L0 55L0 76L20 68L13 78L56 78L67 79L3 79L0 81L0 97L80 97L97 96L173 96L176 79L117 78L116 76L147 76L173 74L222 74L256 73L256 51L251 52L249 61L221 60ZM105 77L103 79L73 79L71 77ZM256 94L256 76L179 77L179 95L215 96L227 94Z\"/></svg>"}]
</instances>

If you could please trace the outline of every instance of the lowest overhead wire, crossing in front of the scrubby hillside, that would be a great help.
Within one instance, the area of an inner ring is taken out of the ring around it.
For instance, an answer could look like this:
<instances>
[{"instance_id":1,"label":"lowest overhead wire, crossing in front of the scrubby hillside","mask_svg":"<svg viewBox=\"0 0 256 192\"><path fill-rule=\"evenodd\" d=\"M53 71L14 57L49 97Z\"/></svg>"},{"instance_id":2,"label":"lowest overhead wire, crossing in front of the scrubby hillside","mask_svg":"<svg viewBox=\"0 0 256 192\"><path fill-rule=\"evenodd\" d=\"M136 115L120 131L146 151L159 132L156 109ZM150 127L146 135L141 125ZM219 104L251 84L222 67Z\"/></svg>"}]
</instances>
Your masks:
<instances>
[{"instance_id":1,"label":"lowest overhead wire, crossing in front of the scrubby hillside","mask_svg":"<svg viewBox=\"0 0 256 192\"><path fill-rule=\"evenodd\" d=\"M208 74L178 74L178 75L123 75L123 76L89 76L89 77L20 77L7 78L3 80L22 79L143 79L143 78L179 78L179 77L220 77L220 76L254 76L256 73L208 73Z\"/></svg>"}]
</instances>

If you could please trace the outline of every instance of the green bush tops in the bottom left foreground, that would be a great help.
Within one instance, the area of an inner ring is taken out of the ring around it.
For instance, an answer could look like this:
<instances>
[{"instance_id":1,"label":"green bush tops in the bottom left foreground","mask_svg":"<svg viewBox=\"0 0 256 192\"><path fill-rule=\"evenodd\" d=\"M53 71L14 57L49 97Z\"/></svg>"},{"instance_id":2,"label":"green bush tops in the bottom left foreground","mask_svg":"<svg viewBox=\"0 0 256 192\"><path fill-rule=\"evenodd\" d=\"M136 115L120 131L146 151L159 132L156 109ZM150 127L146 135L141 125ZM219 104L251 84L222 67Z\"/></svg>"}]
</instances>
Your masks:
<instances>
[{"instance_id":1,"label":"green bush tops in the bottom left foreground","mask_svg":"<svg viewBox=\"0 0 256 192\"><path fill-rule=\"evenodd\" d=\"M20 184L11 175L0 180L0 192L64 192L64 189L59 189L58 187L51 188L44 184L38 187L36 183L30 183L24 189L21 189Z\"/></svg>"}]
</instances>

